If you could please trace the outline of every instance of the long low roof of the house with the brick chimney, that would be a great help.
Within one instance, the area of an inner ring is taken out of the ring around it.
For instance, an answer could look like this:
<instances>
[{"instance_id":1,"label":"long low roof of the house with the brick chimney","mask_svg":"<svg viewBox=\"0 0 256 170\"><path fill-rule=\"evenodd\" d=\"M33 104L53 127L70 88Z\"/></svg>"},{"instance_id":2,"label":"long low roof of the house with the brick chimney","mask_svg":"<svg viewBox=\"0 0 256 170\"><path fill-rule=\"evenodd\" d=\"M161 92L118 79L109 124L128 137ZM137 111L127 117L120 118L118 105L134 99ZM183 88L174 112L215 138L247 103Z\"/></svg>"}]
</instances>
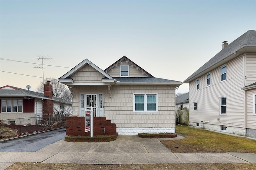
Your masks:
<instances>
[{"instance_id":1,"label":"long low roof of the house with the brick chimney","mask_svg":"<svg viewBox=\"0 0 256 170\"><path fill-rule=\"evenodd\" d=\"M44 96L42 93L33 92L30 90L25 90L22 88L14 87L14 86L3 86L0 87L0 97L1 98L7 98L7 97L27 97L27 98L40 98L40 99L46 99L46 100L53 100L56 102L63 102L66 104L72 104L69 101L62 100L56 97L49 98L48 96Z\"/></svg>"}]
</instances>

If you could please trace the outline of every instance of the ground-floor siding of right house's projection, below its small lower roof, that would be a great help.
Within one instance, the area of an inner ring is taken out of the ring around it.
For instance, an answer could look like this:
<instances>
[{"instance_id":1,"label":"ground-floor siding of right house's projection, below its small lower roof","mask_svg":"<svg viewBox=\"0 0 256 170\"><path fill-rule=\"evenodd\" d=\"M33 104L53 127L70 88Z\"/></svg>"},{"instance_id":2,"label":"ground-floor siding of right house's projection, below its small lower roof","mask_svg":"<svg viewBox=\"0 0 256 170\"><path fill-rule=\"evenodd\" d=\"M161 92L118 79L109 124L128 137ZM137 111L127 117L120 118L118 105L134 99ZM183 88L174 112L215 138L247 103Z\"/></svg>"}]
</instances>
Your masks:
<instances>
[{"instance_id":1,"label":"ground-floor siding of right house's projection, below its small lower roof","mask_svg":"<svg viewBox=\"0 0 256 170\"><path fill-rule=\"evenodd\" d=\"M256 89L246 90L246 128L256 129L256 115L253 114L253 95L256 94Z\"/></svg>"}]
</instances>

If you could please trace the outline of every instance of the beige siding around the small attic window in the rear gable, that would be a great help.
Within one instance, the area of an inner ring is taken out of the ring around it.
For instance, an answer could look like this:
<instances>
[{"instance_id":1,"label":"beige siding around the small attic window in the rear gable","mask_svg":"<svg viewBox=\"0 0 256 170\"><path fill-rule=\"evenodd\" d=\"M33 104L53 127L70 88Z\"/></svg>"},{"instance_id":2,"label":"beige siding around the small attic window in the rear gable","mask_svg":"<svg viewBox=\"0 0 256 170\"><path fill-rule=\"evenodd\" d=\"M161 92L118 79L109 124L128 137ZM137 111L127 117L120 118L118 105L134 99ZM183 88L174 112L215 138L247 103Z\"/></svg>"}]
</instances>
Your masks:
<instances>
[{"instance_id":1,"label":"beige siding around the small attic window in the rear gable","mask_svg":"<svg viewBox=\"0 0 256 170\"><path fill-rule=\"evenodd\" d=\"M121 65L129 65L129 77L147 77L140 70L136 70L136 67L132 67L130 63L123 63ZM120 65L113 67L113 70L109 70L108 74L112 77L120 77Z\"/></svg>"}]
</instances>

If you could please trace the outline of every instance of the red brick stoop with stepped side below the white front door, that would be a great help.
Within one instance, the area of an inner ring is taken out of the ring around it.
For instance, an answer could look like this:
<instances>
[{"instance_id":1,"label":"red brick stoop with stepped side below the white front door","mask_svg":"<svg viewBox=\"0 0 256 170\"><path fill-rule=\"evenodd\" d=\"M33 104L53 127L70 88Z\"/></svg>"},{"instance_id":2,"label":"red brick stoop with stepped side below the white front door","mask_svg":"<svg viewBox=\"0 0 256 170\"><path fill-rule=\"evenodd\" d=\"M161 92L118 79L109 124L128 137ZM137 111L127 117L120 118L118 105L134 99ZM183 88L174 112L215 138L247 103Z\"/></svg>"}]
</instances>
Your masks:
<instances>
[{"instance_id":1,"label":"red brick stoop with stepped side below the white front door","mask_svg":"<svg viewBox=\"0 0 256 170\"><path fill-rule=\"evenodd\" d=\"M66 117L66 136L65 141L70 142L80 142L87 141L87 138L93 138L90 137L90 131L85 132L85 117ZM104 135L104 129L105 129L105 136ZM116 139L117 133L116 133L116 124L111 123L111 120L106 120L106 117L93 117L93 136L102 135L102 139L91 139L90 142L108 142L114 141ZM108 139L109 136L111 139ZM74 137L77 137L77 141L75 141ZM100 138L99 137L99 138ZM82 139L84 138L84 139ZM100 141L98 141L100 140Z\"/></svg>"}]
</instances>

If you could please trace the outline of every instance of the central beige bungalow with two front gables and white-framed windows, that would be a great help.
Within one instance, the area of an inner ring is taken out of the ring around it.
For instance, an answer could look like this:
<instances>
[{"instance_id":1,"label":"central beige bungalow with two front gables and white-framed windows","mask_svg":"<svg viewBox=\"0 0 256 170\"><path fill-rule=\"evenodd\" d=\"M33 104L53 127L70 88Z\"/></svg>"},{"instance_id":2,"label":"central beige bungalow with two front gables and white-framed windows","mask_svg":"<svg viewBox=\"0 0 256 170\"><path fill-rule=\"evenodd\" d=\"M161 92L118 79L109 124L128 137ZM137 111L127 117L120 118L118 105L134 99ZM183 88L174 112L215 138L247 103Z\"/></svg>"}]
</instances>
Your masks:
<instances>
[{"instance_id":1,"label":"central beige bungalow with two front gables and white-framed windows","mask_svg":"<svg viewBox=\"0 0 256 170\"><path fill-rule=\"evenodd\" d=\"M175 88L182 82L155 78L125 56L105 70L85 59L59 81L73 95L73 116L92 106L120 135L175 132Z\"/></svg>"}]
</instances>

